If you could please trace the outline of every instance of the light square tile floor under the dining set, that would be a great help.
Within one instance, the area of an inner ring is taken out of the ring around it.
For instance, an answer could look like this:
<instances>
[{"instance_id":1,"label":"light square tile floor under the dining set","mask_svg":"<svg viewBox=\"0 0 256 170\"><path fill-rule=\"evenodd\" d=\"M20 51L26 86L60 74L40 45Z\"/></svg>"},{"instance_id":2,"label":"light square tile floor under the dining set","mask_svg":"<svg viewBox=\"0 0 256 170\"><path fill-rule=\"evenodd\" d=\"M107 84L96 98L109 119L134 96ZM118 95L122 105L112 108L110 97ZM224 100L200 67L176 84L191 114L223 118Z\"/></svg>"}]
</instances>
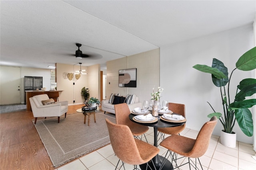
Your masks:
<instances>
[{"instance_id":1,"label":"light square tile floor under the dining set","mask_svg":"<svg viewBox=\"0 0 256 170\"><path fill-rule=\"evenodd\" d=\"M194 139L197 134L198 131L188 128L185 128L180 133L180 135ZM146 138L153 145L154 130L152 127L146 133ZM158 148L160 149L159 155L165 156L167 150L161 146L158 146ZM228 148L220 144L220 137L212 135L208 150L200 157L200 162L204 170L256 170L256 160L252 158L254 155L255 152L251 144L237 142L236 148ZM57 170L114 170L118 160L111 145L107 145L68 164L60 166ZM184 160L185 158L178 160L178 164L181 164ZM119 165L121 166L121 164ZM133 165L125 164L126 170L132 170L133 168ZM123 169L122 167L121 170ZM140 169L139 166L138 169ZM188 169L188 164L180 167L180 170Z\"/></svg>"}]
</instances>

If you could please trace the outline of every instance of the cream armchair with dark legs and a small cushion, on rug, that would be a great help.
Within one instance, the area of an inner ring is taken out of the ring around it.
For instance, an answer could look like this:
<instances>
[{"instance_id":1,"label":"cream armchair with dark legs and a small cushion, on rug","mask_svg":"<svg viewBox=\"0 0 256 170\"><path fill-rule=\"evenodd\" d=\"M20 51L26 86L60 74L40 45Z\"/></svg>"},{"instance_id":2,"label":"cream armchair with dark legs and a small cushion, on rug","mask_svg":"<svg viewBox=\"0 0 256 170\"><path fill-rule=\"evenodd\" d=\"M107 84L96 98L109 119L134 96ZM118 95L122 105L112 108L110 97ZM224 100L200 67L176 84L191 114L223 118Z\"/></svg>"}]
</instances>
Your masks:
<instances>
[{"instance_id":1,"label":"cream armchair with dark legs and a small cushion, on rug","mask_svg":"<svg viewBox=\"0 0 256 170\"><path fill-rule=\"evenodd\" d=\"M60 116L68 111L68 101L55 102L54 104L43 105L43 100L49 100L47 94L40 94L29 98L33 115L35 117L35 124L38 117L55 117L58 116L58 123L60 123Z\"/></svg>"}]
</instances>

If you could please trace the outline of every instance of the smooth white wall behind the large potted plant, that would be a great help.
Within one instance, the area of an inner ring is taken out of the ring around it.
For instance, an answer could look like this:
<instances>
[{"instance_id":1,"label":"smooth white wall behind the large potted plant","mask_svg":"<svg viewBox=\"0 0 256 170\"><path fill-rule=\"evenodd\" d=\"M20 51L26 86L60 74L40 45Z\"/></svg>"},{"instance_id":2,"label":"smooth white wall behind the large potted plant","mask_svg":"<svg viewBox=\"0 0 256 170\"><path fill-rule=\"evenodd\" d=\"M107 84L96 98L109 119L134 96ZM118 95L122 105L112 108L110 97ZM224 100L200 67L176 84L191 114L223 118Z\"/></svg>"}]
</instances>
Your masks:
<instances>
[{"instance_id":1,"label":"smooth white wall behind the large potted plant","mask_svg":"<svg viewBox=\"0 0 256 170\"><path fill-rule=\"evenodd\" d=\"M200 130L209 120L207 115L213 111L206 102L215 111L223 113L220 90L212 83L211 75L192 66L211 66L212 59L216 58L225 64L230 75L236 68L238 58L254 47L253 41L253 27L246 25L160 48L160 86L164 88L162 99L186 105L186 127ZM254 71L234 71L230 83L232 100L240 80L253 77ZM218 121L213 134L220 136L221 129ZM253 143L253 138L244 135L237 123L233 131L237 133L238 141Z\"/></svg>"}]
</instances>

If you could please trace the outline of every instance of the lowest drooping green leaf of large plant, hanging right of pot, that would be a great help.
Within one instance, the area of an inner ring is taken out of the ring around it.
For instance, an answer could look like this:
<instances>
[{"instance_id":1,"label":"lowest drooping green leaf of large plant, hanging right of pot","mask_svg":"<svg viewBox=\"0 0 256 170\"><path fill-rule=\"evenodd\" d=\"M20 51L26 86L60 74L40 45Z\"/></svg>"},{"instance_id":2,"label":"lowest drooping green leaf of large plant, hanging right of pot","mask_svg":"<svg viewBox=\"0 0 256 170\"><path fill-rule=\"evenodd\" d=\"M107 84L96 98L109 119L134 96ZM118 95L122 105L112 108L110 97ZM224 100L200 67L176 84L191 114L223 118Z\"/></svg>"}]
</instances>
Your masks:
<instances>
[{"instance_id":1,"label":"lowest drooping green leaf of large plant, hanging right of pot","mask_svg":"<svg viewBox=\"0 0 256 170\"><path fill-rule=\"evenodd\" d=\"M235 110L235 117L242 132L248 137L251 137L253 134L251 111L247 108L237 109Z\"/></svg>"}]
</instances>

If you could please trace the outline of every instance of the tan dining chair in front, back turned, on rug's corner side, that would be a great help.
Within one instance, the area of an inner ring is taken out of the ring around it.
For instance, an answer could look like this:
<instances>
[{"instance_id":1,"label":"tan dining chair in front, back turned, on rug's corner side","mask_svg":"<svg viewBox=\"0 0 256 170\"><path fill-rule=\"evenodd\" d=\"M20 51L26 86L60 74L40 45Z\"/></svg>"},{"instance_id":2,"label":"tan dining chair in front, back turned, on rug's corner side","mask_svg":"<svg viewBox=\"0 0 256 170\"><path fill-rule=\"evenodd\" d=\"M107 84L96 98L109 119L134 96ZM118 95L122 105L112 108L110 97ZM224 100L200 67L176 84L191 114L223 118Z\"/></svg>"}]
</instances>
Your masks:
<instances>
[{"instance_id":1,"label":"tan dining chair in front, back turned, on rug's corner side","mask_svg":"<svg viewBox=\"0 0 256 170\"><path fill-rule=\"evenodd\" d=\"M146 163L148 168L148 162L150 160L153 161L152 158L154 158L160 150L149 143L134 139L127 125L118 125L108 119L106 119L106 124L111 146L114 153L119 158L116 169L118 168L120 160L122 161L121 167L124 167L124 163L127 163L134 165L134 169L137 170L137 165ZM156 167L154 168L156 169Z\"/></svg>"}]
</instances>

